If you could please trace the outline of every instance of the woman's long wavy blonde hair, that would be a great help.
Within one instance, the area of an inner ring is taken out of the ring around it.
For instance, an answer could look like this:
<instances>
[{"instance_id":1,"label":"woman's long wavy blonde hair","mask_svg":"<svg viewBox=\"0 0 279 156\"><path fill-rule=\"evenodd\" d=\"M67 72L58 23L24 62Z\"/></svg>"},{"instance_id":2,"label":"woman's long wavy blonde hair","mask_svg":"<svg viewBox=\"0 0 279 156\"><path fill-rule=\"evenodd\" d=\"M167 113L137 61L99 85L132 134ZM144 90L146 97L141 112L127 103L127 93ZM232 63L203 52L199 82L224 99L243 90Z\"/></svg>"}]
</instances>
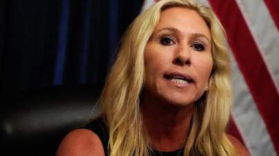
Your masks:
<instances>
[{"instance_id":1,"label":"woman's long wavy blonde hair","mask_svg":"<svg viewBox=\"0 0 279 156\"><path fill-rule=\"evenodd\" d=\"M99 102L109 127L112 156L149 155L143 131L140 94L145 79L145 45L163 10L172 7L195 10L211 32L213 70L209 91L195 104L192 126L184 155L235 155L225 129L231 108L230 63L225 47L225 31L210 8L194 0L162 0L142 12L128 27L118 56L105 82ZM107 149L105 149L107 150Z\"/></svg>"}]
</instances>

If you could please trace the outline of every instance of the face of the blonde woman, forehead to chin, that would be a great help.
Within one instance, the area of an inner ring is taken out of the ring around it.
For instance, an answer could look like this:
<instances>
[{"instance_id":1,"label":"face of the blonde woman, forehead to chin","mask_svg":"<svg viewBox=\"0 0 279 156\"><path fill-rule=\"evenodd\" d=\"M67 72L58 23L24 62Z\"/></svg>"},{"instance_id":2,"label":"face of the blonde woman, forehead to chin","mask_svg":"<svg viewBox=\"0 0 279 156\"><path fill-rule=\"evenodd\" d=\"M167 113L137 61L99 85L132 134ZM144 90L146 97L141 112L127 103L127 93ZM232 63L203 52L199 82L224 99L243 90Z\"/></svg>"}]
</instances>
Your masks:
<instances>
[{"instance_id":1,"label":"face of the blonde woman, forehead to chin","mask_svg":"<svg viewBox=\"0 0 279 156\"><path fill-rule=\"evenodd\" d=\"M211 74L211 34L196 11L168 8L161 13L144 57L143 98L192 104L203 95Z\"/></svg>"}]
</instances>

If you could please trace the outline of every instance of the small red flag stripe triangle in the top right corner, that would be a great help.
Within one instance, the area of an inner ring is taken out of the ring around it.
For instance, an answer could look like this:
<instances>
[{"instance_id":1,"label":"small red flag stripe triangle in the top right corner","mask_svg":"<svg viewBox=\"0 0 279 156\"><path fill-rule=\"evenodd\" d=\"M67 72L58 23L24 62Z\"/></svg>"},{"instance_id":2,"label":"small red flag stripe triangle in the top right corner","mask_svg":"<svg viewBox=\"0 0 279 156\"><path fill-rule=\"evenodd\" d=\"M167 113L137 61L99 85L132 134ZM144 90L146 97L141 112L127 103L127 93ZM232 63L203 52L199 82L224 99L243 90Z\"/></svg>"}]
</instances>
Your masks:
<instances>
[{"instance_id":1,"label":"small red flag stripe triangle in the top right corner","mask_svg":"<svg viewBox=\"0 0 279 156\"><path fill-rule=\"evenodd\" d=\"M265 0L265 4L273 18L274 23L279 30L279 1L278 0Z\"/></svg>"}]
</instances>

